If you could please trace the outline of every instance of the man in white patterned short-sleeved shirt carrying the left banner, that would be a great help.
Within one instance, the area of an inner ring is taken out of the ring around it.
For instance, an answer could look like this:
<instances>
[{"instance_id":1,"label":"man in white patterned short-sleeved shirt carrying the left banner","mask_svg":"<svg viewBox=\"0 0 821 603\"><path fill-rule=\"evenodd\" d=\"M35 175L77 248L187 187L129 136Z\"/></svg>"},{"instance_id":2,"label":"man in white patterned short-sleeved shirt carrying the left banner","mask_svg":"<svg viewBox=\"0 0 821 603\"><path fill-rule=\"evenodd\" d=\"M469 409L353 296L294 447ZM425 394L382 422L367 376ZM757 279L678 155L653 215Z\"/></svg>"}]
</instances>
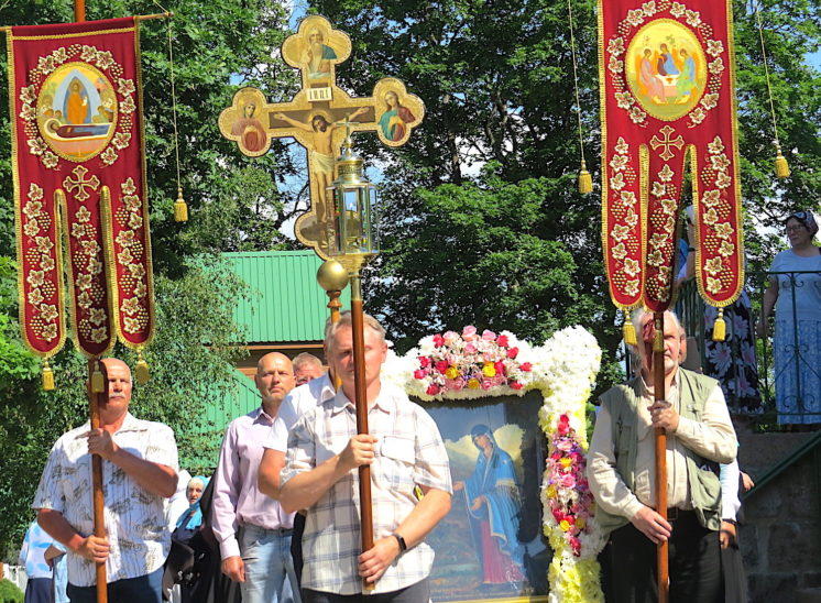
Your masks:
<instances>
[{"instance_id":1,"label":"man in white patterned short-sleeved shirt carrying the left banner","mask_svg":"<svg viewBox=\"0 0 821 603\"><path fill-rule=\"evenodd\" d=\"M131 371L101 361L108 381L100 428L86 423L56 441L32 507L37 523L65 545L72 603L95 603L96 562L106 563L110 603L160 603L171 548L165 501L176 491L177 445L160 423L129 413ZM91 453L102 458L106 537L94 536Z\"/></svg>"}]
</instances>

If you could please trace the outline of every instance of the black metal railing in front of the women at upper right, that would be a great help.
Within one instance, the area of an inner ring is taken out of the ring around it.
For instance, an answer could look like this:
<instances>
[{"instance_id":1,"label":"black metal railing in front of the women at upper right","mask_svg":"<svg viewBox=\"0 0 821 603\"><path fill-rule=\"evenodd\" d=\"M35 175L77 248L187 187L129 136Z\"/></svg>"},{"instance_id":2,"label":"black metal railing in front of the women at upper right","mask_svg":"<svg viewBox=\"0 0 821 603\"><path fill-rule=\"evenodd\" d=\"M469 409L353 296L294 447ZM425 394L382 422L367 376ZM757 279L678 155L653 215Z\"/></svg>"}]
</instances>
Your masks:
<instances>
[{"instance_id":1,"label":"black metal railing in front of the women at upper right","mask_svg":"<svg viewBox=\"0 0 821 603\"><path fill-rule=\"evenodd\" d=\"M751 342L754 341L754 347L745 346L742 338L734 335L736 331L741 332L740 329L756 332L764 293L770 278L778 282L779 297L785 296L786 299L789 296L791 302L786 308L782 304L777 311L773 311L766 337L754 336L754 340L749 339ZM688 336L696 340L701 369L710 374L710 363L715 366L718 361L723 366L741 366L741 359L746 359L748 365L756 369L760 403L751 404L751 383L744 372L729 370L720 381L732 413L755 415L758 421L768 424L776 420L778 424L821 424L821 388L818 387L821 373L821 324L804 320L796 300L796 296L800 297L804 287L821 288L821 272L753 272L747 273L747 283L746 299L736 304L748 308L748 317L745 321L734 317L732 310L725 309L727 340L720 352L711 342L715 310L705 307L694 279L689 279L681 286L676 310ZM813 292L813 295L818 294ZM818 311L821 313L821 308ZM774 329L775 319L778 320L777 332ZM817 332L800 332L799 329ZM809 341L810 338L812 341ZM778 362L775 361L774 344L778 346ZM755 359L752 358L753 350ZM778 392L777 387L781 387L781 391ZM780 408L777 407L776 399Z\"/></svg>"}]
</instances>

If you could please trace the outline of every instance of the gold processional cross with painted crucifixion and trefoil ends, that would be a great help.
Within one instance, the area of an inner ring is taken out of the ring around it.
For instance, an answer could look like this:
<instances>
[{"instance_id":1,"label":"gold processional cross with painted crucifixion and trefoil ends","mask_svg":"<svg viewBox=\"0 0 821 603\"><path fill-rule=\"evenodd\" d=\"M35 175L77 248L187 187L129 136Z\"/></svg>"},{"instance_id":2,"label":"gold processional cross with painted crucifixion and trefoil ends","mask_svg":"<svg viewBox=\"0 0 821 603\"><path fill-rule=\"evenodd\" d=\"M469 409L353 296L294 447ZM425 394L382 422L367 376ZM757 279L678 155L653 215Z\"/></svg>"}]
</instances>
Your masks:
<instances>
[{"instance_id":1,"label":"gold processional cross with painted crucifixion and trefoil ends","mask_svg":"<svg viewBox=\"0 0 821 603\"><path fill-rule=\"evenodd\" d=\"M376 83L370 97L351 97L336 84L337 65L351 53L344 32L324 17L310 15L285 40L283 59L299 69L302 89L289 102L269 103L256 88L242 88L219 117L222 135L251 157L267 152L271 141L293 138L308 154L310 209L296 222L296 237L329 257L333 211L326 189L335 179L336 158L346 130L376 132L388 146L401 146L422 123L425 105L396 78Z\"/></svg>"}]
</instances>

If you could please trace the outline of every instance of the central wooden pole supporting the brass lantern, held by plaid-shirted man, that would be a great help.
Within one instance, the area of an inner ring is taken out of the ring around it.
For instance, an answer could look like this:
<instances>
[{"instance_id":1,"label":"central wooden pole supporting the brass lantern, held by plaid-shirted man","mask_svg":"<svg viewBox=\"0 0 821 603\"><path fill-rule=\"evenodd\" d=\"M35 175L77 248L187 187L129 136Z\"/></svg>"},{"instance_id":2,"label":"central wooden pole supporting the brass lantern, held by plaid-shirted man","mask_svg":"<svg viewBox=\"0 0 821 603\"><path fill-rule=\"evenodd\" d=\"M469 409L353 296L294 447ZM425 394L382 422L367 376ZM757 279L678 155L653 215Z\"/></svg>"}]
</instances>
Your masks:
<instances>
[{"instance_id":1,"label":"central wooden pole supporting the brass lantern, held by plaid-shirted man","mask_svg":"<svg viewBox=\"0 0 821 603\"><path fill-rule=\"evenodd\" d=\"M359 271L351 274L351 330L353 331L354 404L357 406L357 434L368 434L368 388L365 383L364 310L362 309L362 277ZM362 552L373 548L373 507L371 502L371 467L359 468L359 506L361 514ZM363 583L373 590L372 582Z\"/></svg>"}]
</instances>

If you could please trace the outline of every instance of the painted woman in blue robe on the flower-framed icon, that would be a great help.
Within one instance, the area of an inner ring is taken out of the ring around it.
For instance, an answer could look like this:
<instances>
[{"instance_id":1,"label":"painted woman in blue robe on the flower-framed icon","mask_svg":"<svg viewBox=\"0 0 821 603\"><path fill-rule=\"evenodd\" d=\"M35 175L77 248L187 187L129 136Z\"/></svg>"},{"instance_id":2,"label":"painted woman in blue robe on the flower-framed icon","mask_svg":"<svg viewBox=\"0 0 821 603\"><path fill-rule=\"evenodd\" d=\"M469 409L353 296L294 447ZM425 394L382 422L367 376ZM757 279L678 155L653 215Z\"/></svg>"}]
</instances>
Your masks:
<instances>
[{"instance_id":1,"label":"painted woman in blue robe on the flower-framed icon","mask_svg":"<svg viewBox=\"0 0 821 603\"><path fill-rule=\"evenodd\" d=\"M524 580L524 547L518 541L522 504L516 469L486 425L471 430L479 458L473 474L453 484L463 491L477 552L485 584L516 583Z\"/></svg>"}]
</instances>

